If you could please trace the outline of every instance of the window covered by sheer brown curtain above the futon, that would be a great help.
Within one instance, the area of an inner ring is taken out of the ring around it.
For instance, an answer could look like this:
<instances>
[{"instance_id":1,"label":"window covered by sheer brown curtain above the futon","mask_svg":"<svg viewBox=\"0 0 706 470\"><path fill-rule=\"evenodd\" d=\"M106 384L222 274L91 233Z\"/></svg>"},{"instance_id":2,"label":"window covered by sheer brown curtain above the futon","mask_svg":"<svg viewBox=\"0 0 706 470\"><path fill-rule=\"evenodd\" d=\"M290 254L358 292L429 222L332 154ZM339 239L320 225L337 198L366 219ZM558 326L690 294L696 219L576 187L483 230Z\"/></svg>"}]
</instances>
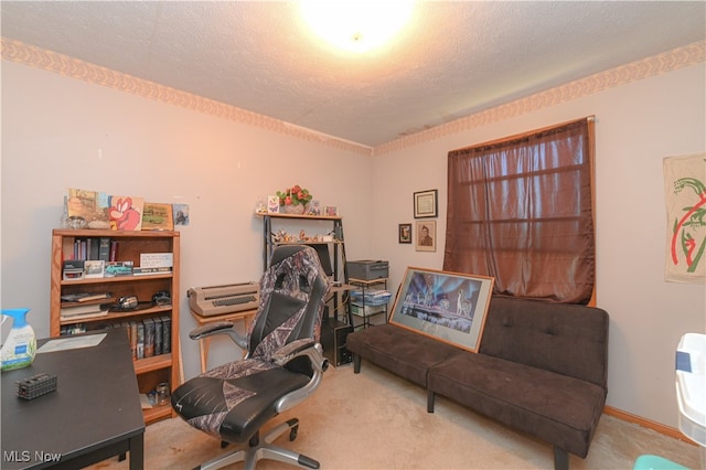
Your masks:
<instances>
[{"instance_id":1,"label":"window covered by sheer brown curtain above the futon","mask_svg":"<svg viewBox=\"0 0 706 470\"><path fill-rule=\"evenodd\" d=\"M494 291L589 303L592 118L449 152L443 269Z\"/></svg>"}]
</instances>

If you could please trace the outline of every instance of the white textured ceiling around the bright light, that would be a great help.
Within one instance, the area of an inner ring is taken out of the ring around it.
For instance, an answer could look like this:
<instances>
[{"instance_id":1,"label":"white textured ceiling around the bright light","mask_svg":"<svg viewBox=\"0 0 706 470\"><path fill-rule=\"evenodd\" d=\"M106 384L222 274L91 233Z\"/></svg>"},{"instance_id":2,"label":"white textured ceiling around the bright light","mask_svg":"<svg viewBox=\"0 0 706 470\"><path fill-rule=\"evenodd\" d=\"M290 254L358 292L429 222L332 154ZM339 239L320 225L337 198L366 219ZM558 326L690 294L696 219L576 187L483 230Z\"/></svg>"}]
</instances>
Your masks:
<instances>
[{"instance_id":1,"label":"white textured ceiling around the bright light","mask_svg":"<svg viewBox=\"0 0 706 470\"><path fill-rule=\"evenodd\" d=\"M296 2L6 1L2 36L375 147L706 39L704 1L421 1L333 51Z\"/></svg>"}]
</instances>

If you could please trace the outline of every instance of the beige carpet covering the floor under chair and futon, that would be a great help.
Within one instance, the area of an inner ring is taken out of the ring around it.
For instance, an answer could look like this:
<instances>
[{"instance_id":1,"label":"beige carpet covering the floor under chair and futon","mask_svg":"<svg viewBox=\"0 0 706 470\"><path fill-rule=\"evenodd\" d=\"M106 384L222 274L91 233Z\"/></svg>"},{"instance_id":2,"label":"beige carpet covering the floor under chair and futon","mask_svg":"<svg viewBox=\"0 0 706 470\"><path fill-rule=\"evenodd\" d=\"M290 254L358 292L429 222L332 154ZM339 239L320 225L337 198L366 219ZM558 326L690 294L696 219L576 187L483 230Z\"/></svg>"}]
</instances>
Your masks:
<instances>
[{"instance_id":1,"label":"beige carpet covering the floor under chair and futon","mask_svg":"<svg viewBox=\"0 0 706 470\"><path fill-rule=\"evenodd\" d=\"M296 413L293 413L296 412ZM331 367L306 403L280 418L300 418L299 436L276 441L321 462L322 469L550 469L548 444L515 432L443 397L427 413L426 392L367 362ZM227 449L226 449L227 450ZM220 442L180 418L147 428L146 469L191 469L221 452ZM700 448L603 415L586 459L571 469L632 469L643 453L702 468ZM127 469L107 460L93 469ZM242 463L232 466L243 468ZM293 468L263 461L258 469Z\"/></svg>"}]
</instances>

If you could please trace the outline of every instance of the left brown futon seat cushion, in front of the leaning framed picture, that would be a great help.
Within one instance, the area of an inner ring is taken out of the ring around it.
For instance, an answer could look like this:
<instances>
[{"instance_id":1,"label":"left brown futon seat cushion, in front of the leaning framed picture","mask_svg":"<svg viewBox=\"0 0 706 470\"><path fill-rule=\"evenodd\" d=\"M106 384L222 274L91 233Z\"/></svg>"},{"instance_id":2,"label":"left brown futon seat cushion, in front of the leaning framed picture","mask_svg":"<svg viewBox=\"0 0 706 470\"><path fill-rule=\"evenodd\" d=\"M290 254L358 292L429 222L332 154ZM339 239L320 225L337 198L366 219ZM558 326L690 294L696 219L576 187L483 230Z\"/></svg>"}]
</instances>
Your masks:
<instances>
[{"instance_id":1,"label":"left brown futon seat cushion, in front of the leaning framed picture","mask_svg":"<svg viewBox=\"0 0 706 470\"><path fill-rule=\"evenodd\" d=\"M346 348L381 367L387 368L417 385L427 386L427 371L463 351L419 333L379 324L351 333Z\"/></svg>"}]
</instances>

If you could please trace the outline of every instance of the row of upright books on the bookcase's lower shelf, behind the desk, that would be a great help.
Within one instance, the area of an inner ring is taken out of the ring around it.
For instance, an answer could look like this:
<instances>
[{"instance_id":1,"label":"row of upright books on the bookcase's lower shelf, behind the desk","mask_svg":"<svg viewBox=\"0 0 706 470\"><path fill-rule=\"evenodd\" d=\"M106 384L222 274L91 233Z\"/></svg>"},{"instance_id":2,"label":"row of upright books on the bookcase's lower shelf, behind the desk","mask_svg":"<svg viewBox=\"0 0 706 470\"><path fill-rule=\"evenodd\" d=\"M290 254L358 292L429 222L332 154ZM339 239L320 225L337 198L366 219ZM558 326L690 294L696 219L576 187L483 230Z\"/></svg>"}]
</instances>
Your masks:
<instances>
[{"instance_id":1,"label":"row of upright books on the bookcase's lower shelf, behind the desk","mask_svg":"<svg viewBox=\"0 0 706 470\"><path fill-rule=\"evenodd\" d=\"M95 324L95 323L94 323ZM103 328L125 328L130 339L132 360L169 354L172 351L172 319L169 316L106 323ZM86 327L76 323L63 325L61 335L85 333Z\"/></svg>"}]
</instances>

